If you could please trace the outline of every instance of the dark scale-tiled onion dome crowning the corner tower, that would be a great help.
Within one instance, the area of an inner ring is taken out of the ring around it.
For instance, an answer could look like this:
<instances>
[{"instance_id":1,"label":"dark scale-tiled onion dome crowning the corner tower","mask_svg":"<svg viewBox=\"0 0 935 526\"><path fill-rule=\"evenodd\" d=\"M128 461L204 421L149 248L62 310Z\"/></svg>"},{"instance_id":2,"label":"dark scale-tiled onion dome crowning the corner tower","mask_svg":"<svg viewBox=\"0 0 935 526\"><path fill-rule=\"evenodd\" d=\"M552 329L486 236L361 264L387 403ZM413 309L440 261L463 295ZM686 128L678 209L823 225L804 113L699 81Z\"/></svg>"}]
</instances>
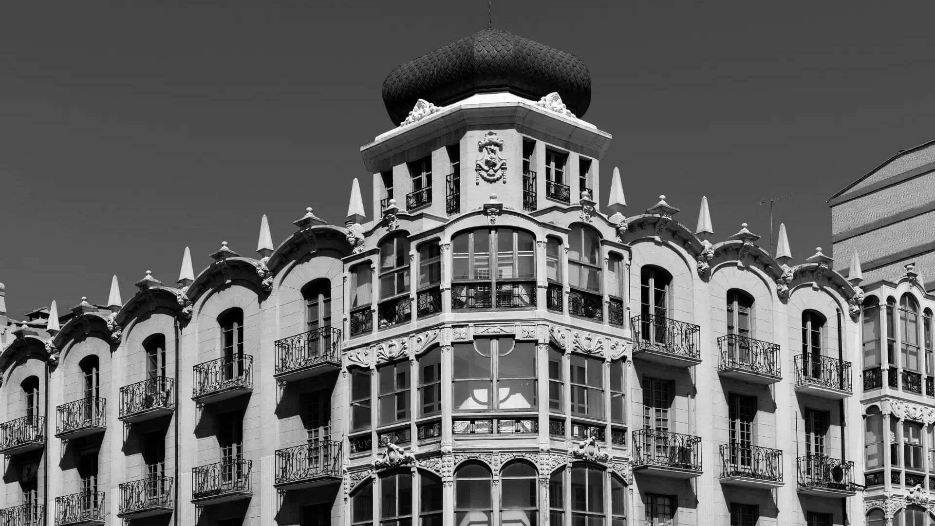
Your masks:
<instances>
[{"instance_id":1,"label":"dark scale-tiled onion dome crowning the corner tower","mask_svg":"<svg viewBox=\"0 0 935 526\"><path fill-rule=\"evenodd\" d=\"M383 103L399 124L424 98L444 106L478 93L524 98L558 92L579 117L591 104L591 73L571 53L498 29L484 29L396 67L383 80Z\"/></svg>"}]
</instances>

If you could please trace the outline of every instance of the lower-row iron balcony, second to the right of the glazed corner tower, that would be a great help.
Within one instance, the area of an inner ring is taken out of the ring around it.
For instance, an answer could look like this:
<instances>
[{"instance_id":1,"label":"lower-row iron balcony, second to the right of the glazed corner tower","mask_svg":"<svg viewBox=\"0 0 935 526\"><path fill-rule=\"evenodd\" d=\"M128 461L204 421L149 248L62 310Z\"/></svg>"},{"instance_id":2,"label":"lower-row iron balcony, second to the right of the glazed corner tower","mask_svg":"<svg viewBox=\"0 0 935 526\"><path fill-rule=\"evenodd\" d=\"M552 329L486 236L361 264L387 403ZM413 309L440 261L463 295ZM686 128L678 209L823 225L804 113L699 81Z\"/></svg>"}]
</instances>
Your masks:
<instances>
[{"instance_id":1,"label":"lower-row iron balcony, second to the right of the glazed corner tower","mask_svg":"<svg viewBox=\"0 0 935 526\"><path fill-rule=\"evenodd\" d=\"M747 444L721 446L721 484L779 488L783 485L783 452Z\"/></svg>"}]
</instances>

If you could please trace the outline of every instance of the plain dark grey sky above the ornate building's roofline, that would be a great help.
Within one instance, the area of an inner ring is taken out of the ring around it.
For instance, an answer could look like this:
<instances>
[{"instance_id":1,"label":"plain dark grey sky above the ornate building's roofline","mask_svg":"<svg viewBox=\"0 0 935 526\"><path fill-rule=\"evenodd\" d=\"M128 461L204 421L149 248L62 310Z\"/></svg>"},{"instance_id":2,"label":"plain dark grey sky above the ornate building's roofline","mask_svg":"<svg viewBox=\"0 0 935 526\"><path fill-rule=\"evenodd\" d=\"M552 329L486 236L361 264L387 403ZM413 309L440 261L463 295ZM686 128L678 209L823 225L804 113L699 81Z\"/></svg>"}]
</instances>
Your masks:
<instances>
[{"instance_id":1,"label":"plain dark grey sky above the ornate building's roofline","mask_svg":"<svg viewBox=\"0 0 935 526\"><path fill-rule=\"evenodd\" d=\"M306 207L343 225L396 66L481 30L487 2L18 2L0 16L0 282L8 315L166 285ZM935 139L933 3L498 0L494 27L580 57L627 212L659 195L713 241L830 254L826 200ZM367 208L369 211L369 208ZM775 231L774 231L775 233ZM773 241L775 243L775 241ZM849 255L835 255L847 257Z\"/></svg>"}]
</instances>

